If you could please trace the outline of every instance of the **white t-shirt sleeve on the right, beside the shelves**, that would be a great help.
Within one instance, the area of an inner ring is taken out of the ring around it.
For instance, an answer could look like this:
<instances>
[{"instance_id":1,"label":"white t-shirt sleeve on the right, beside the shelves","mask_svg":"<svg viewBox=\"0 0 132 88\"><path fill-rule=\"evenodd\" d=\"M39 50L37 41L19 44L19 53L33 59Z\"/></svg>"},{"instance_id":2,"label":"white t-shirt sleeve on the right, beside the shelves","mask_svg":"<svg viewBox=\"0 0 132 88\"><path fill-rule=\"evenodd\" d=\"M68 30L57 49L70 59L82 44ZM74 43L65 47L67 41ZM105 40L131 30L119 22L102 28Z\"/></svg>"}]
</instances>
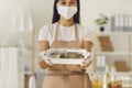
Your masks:
<instances>
[{"instance_id":1,"label":"white t-shirt sleeve on the right, beside the shelves","mask_svg":"<svg viewBox=\"0 0 132 88\"><path fill-rule=\"evenodd\" d=\"M94 43L94 33L91 30L84 29L82 35L84 41L91 41Z\"/></svg>"}]
</instances>

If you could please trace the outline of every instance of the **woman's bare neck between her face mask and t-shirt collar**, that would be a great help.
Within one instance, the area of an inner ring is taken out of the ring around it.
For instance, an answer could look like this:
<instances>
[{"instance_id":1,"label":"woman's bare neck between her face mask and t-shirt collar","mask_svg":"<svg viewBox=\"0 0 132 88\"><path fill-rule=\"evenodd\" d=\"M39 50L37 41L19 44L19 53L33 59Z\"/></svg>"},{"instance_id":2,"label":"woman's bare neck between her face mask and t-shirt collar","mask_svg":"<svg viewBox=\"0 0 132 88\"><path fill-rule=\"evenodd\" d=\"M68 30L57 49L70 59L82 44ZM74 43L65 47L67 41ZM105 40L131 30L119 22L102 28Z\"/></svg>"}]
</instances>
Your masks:
<instances>
[{"instance_id":1,"label":"woman's bare neck between her face mask and t-shirt collar","mask_svg":"<svg viewBox=\"0 0 132 88\"><path fill-rule=\"evenodd\" d=\"M64 26L72 26L72 25L75 24L75 22L74 22L73 18L69 19L69 20L66 20L66 19L64 19L64 18L61 16L59 24L64 25Z\"/></svg>"}]
</instances>

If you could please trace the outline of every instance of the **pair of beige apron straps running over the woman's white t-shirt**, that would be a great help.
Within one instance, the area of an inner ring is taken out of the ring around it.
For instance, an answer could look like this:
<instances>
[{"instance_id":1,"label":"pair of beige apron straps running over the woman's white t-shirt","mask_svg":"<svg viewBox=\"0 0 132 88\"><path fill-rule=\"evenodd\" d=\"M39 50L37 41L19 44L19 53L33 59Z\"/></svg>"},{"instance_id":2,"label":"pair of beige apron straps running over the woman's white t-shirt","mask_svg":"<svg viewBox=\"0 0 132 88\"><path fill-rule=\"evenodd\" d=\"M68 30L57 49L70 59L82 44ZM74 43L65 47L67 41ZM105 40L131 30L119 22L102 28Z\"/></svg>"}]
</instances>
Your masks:
<instances>
[{"instance_id":1,"label":"pair of beige apron straps running over the woman's white t-shirt","mask_svg":"<svg viewBox=\"0 0 132 88\"><path fill-rule=\"evenodd\" d=\"M55 41L57 41L57 37L58 37L58 30L59 30L59 22L57 23L56 30L55 30ZM79 41L77 24L75 24L75 38Z\"/></svg>"}]
</instances>

